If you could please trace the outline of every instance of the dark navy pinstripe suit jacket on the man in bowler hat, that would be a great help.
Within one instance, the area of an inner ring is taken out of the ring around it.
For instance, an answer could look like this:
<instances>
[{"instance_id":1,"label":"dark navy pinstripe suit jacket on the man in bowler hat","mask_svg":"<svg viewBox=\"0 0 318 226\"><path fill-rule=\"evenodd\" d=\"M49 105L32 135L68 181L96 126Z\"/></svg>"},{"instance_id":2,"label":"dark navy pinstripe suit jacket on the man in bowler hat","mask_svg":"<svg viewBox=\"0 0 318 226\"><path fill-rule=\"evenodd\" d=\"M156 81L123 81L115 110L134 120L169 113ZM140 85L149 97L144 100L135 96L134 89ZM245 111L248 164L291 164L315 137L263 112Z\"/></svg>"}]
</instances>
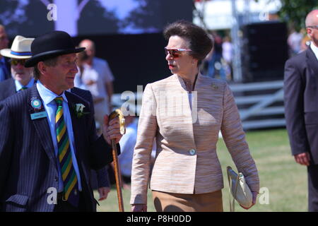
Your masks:
<instances>
[{"instance_id":1,"label":"dark navy pinstripe suit jacket on the man in bowler hat","mask_svg":"<svg viewBox=\"0 0 318 226\"><path fill-rule=\"evenodd\" d=\"M52 211L47 203L49 188L57 188L59 174L47 118L30 119L35 109L31 99L41 100L36 85L0 102L0 210ZM89 170L100 169L112 162L111 147L97 137L93 115L77 118L72 104L86 100L66 92L71 114L76 158L82 179L83 195L88 211L96 201L89 184Z\"/></svg>"}]
</instances>

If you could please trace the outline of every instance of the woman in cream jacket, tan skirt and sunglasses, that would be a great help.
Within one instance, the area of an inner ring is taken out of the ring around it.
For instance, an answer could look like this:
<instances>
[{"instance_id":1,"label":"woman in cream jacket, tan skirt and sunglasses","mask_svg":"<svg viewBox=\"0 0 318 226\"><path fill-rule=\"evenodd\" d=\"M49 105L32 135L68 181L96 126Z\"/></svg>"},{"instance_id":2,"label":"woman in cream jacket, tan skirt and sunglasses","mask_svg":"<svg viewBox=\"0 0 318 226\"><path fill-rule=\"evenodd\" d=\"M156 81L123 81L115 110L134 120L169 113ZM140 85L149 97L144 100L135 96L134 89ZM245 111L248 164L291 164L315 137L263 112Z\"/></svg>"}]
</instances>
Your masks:
<instances>
[{"instance_id":1,"label":"woman in cream jacket, tan skirt and sunglasses","mask_svg":"<svg viewBox=\"0 0 318 226\"><path fill-rule=\"evenodd\" d=\"M257 167L249 153L240 115L225 81L199 73L213 40L179 20L165 28L172 76L146 85L131 173L131 210L147 210L147 189L157 211L223 211L223 175L216 154L218 133L253 193ZM151 170L151 150L157 150Z\"/></svg>"}]
</instances>

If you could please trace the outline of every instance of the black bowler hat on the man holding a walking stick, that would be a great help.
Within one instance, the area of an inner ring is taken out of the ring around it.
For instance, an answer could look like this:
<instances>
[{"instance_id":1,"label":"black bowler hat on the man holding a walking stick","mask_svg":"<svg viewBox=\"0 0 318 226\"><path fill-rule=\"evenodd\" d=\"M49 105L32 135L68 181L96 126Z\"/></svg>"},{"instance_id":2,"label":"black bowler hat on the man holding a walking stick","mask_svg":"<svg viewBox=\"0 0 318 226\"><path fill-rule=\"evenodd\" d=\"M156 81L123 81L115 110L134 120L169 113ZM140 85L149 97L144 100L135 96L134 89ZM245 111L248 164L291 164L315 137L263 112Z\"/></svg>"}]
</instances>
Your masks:
<instances>
[{"instance_id":1,"label":"black bowler hat on the man holding a walking stick","mask_svg":"<svg viewBox=\"0 0 318 226\"><path fill-rule=\"evenodd\" d=\"M71 36L64 31L52 31L41 35L32 42L32 57L25 62L30 68L38 62L64 54L82 52L85 48L76 48Z\"/></svg>"}]
</instances>

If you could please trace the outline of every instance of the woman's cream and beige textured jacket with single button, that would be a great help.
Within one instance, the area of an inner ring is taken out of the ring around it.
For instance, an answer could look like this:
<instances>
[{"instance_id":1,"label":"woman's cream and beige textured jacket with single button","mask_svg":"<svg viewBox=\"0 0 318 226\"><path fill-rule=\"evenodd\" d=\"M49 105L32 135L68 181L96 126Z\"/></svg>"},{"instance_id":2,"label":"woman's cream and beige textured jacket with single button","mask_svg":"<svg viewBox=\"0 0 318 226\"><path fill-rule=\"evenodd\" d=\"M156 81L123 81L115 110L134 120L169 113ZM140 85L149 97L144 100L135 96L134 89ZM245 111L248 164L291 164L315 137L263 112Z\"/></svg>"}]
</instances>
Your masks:
<instances>
[{"instance_id":1,"label":"woman's cream and beige textured jacket with single button","mask_svg":"<svg viewBox=\"0 0 318 226\"><path fill-rule=\"evenodd\" d=\"M252 191L259 191L257 167L249 153L240 115L225 81L199 74L192 108L176 74L146 85L131 174L131 203L146 203L152 190L204 194L223 189L216 154L221 131L237 169ZM153 139L157 144L151 173Z\"/></svg>"}]
</instances>

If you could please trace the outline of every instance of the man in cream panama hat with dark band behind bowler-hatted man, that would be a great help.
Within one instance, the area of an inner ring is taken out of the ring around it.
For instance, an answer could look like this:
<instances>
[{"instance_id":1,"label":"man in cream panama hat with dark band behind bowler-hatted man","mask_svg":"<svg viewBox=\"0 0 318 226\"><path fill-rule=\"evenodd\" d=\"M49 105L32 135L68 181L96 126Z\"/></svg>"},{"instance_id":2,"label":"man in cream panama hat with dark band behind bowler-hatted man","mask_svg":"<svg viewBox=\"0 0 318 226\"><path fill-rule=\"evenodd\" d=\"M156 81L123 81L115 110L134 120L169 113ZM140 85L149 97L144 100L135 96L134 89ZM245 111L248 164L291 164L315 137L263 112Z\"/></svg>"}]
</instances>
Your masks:
<instances>
[{"instance_id":1,"label":"man in cream panama hat with dark band behind bowler-hatted man","mask_svg":"<svg viewBox=\"0 0 318 226\"><path fill-rule=\"evenodd\" d=\"M31 43L33 40L34 38L17 35L13 40L11 49L0 50L2 56L10 59L12 76L12 78L0 83L0 100L33 86L32 69L24 66L25 61L32 57Z\"/></svg>"}]
</instances>

